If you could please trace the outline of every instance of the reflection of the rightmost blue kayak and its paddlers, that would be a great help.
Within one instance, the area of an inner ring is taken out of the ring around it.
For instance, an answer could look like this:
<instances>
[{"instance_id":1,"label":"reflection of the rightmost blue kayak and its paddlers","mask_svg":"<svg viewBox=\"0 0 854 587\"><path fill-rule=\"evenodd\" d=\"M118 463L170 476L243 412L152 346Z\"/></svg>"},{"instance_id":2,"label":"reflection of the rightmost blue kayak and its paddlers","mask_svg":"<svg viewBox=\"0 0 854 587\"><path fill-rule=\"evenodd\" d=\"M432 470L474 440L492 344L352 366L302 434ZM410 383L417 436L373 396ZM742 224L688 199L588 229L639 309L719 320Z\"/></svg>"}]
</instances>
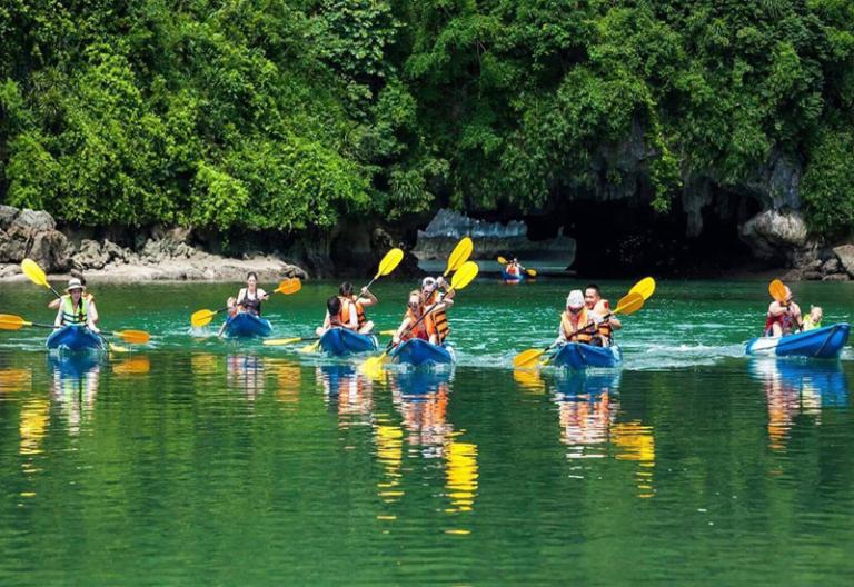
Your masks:
<instances>
[{"instance_id":1,"label":"reflection of the rightmost blue kayak and its paddlers","mask_svg":"<svg viewBox=\"0 0 854 587\"><path fill-rule=\"evenodd\" d=\"M765 387L768 405L768 446L785 450L798 416L822 424L822 408L848 406L848 380L838 361L755 359L751 375Z\"/></svg>"}]
</instances>

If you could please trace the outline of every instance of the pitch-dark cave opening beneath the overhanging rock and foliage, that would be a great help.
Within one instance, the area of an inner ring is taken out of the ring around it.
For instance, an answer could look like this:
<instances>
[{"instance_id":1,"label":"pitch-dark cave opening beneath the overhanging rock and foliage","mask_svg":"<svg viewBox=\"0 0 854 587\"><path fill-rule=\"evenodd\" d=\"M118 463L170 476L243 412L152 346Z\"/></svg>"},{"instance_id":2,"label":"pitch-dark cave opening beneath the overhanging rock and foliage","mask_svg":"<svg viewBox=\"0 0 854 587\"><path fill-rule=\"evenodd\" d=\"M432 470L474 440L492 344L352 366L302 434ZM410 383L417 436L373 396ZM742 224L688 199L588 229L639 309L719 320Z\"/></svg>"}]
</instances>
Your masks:
<instances>
[{"instance_id":1,"label":"pitch-dark cave opening beneath the overhanging rock and foliage","mask_svg":"<svg viewBox=\"0 0 854 587\"><path fill-rule=\"evenodd\" d=\"M703 229L688 237L682 199L668 213L657 213L648 201L566 202L548 217L526 219L534 240L553 237L563 225L575 238L570 269L579 276L625 278L721 277L768 269L738 238L738 225L761 211L753 198L721 192L703 208Z\"/></svg>"}]
</instances>

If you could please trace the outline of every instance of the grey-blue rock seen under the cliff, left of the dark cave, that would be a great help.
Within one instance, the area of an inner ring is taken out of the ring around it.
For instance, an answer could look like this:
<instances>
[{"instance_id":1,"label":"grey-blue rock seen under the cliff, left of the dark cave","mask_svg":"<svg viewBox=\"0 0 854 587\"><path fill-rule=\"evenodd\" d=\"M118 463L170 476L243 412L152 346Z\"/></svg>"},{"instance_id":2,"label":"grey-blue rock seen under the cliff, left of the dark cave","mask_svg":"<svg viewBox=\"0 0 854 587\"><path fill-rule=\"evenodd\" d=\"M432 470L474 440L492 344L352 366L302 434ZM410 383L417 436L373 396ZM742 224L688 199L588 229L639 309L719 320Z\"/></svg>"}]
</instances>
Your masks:
<instances>
[{"instance_id":1,"label":"grey-blue rock seen under the cliff, left of the dark cave","mask_svg":"<svg viewBox=\"0 0 854 587\"><path fill-rule=\"evenodd\" d=\"M418 260L446 259L460 238L477 240L474 259L494 260L498 255L556 260L568 267L575 260L575 240L559 233L545 241L528 239L525 222L484 222L451 210L439 210L425 230L418 231L413 253Z\"/></svg>"}]
</instances>

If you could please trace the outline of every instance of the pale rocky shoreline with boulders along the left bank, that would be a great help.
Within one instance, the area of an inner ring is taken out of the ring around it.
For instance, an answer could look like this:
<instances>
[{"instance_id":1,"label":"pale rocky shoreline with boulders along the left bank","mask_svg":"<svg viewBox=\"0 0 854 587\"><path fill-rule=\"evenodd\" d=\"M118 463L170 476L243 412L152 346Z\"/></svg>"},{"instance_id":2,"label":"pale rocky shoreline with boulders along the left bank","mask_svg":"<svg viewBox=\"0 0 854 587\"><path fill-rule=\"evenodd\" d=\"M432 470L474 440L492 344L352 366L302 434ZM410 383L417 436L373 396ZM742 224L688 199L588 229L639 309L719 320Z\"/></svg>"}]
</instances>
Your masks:
<instances>
[{"instance_id":1,"label":"pale rocky shoreline with boulders along the left bank","mask_svg":"<svg viewBox=\"0 0 854 587\"><path fill-rule=\"evenodd\" d=\"M69 238L44 211L0 206L0 280L23 280L20 262L31 258L48 273L85 273L92 281L242 281L249 271L259 279L307 279L308 272L276 255L230 258L206 252L189 241L190 231L156 231L138 248L105 239Z\"/></svg>"}]
</instances>

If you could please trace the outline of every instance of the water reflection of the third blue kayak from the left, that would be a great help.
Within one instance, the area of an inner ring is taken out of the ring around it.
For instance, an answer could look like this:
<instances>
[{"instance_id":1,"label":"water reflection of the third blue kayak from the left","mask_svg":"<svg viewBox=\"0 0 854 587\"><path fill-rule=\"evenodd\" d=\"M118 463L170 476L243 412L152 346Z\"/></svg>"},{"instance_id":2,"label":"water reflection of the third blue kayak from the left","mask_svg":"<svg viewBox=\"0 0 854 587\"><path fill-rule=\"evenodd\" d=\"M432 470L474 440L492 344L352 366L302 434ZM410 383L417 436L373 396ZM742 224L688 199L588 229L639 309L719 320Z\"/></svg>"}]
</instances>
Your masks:
<instances>
[{"instance_id":1,"label":"water reflection of the third blue kayak from the left","mask_svg":"<svg viewBox=\"0 0 854 587\"><path fill-rule=\"evenodd\" d=\"M338 426L370 425L374 411L374 384L354 365L321 365L316 371L327 408L338 411Z\"/></svg>"}]
</instances>

